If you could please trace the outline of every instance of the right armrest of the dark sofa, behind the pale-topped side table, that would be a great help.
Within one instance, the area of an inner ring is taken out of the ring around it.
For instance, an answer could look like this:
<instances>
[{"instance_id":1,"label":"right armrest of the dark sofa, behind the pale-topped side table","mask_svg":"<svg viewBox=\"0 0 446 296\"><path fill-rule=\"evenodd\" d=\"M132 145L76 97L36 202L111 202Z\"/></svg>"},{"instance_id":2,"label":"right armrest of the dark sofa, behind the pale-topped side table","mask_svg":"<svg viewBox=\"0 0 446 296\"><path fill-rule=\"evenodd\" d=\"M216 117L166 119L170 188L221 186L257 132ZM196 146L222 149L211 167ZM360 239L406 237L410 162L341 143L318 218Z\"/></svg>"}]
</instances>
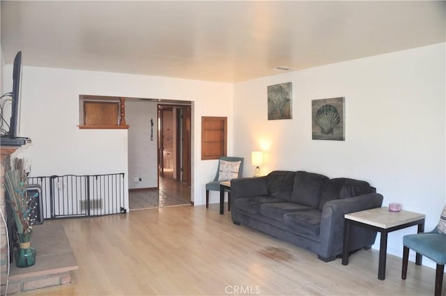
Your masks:
<instances>
[{"instance_id":1,"label":"right armrest of the dark sofa, behind the pale-topped side table","mask_svg":"<svg viewBox=\"0 0 446 296\"><path fill-rule=\"evenodd\" d=\"M344 214L380 208L382 204L383 196L377 193L336 199L325 203L321 217L321 249L319 255L330 258L341 254L344 240ZM353 237L351 239L352 244L366 244L363 247L367 247L367 244L373 244L376 232L364 230L361 235L364 235L364 237Z\"/></svg>"}]
</instances>

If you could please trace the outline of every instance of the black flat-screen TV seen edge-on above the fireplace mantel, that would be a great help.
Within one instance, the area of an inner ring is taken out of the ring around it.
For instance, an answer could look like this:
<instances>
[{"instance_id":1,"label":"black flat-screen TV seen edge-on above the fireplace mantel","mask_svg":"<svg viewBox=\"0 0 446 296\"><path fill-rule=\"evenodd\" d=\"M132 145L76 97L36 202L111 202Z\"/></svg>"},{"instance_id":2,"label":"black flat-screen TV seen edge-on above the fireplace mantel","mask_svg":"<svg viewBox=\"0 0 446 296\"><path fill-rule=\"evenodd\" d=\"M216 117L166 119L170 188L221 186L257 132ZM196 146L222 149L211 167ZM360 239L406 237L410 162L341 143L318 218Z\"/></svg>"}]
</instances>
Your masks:
<instances>
[{"instance_id":1,"label":"black flat-screen TV seen edge-on above the fireplace mantel","mask_svg":"<svg viewBox=\"0 0 446 296\"><path fill-rule=\"evenodd\" d=\"M19 116L20 116L20 72L22 69L22 52L17 52L14 59L13 68L13 91L12 97L12 107L11 107L11 119L9 125L8 137L17 137L17 132L19 130Z\"/></svg>"}]
</instances>

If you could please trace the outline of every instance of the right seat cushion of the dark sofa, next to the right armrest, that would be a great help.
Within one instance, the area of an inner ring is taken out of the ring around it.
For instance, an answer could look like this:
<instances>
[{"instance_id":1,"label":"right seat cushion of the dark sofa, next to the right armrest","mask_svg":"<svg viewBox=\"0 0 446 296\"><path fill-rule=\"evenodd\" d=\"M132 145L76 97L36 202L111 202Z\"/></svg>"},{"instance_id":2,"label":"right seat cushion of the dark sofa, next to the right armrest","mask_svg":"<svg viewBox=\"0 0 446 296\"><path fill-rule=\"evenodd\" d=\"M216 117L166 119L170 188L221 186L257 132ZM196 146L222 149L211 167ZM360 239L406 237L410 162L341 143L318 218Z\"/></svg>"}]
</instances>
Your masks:
<instances>
[{"instance_id":1,"label":"right seat cushion of the dark sofa, next to the right armrest","mask_svg":"<svg viewBox=\"0 0 446 296\"><path fill-rule=\"evenodd\" d=\"M284 224L302 233L319 235L319 232L321 232L321 216L321 210L289 212L284 215Z\"/></svg>"}]
</instances>

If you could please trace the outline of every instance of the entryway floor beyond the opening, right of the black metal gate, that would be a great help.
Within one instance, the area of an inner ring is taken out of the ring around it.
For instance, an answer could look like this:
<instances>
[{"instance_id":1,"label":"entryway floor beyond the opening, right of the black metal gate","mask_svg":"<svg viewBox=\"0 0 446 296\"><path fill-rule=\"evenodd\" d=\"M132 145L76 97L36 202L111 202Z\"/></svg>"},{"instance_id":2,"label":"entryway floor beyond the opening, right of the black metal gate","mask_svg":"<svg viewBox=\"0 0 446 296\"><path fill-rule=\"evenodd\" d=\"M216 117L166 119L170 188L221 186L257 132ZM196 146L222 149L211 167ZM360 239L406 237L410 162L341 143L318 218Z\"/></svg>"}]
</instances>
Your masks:
<instances>
[{"instance_id":1,"label":"entryway floor beyond the opening, right of the black metal gate","mask_svg":"<svg viewBox=\"0 0 446 296\"><path fill-rule=\"evenodd\" d=\"M129 192L130 210L190 205L190 187L183 182L160 177L160 188L137 189Z\"/></svg>"}]
</instances>

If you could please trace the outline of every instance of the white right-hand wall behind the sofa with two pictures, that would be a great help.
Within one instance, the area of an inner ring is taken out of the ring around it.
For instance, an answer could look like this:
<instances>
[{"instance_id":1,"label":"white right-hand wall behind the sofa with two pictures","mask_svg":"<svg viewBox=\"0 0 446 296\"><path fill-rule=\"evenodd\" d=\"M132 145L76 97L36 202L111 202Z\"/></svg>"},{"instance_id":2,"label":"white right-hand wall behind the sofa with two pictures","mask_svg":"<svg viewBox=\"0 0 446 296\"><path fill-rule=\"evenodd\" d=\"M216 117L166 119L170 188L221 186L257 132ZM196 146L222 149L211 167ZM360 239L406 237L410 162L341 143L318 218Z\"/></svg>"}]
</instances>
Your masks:
<instances>
[{"instance_id":1,"label":"white right-hand wall behind the sofa with two pictures","mask_svg":"<svg viewBox=\"0 0 446 296\"><path fill-rule=\"evenodd\" d=\"M446 201L445 80L442 43L238 83L234 154L266 151L263 174L289 169L367 180L383 205L426 214L430 231ZM268 121L266 88L288 81L293 119ZM312 140L312 100L337 97L345 97L346 140ZM245 176L253 172L247 162ZM401 256L403 235L415 232L390 233L388 251Z\"/></svg>"}]
</instances>

